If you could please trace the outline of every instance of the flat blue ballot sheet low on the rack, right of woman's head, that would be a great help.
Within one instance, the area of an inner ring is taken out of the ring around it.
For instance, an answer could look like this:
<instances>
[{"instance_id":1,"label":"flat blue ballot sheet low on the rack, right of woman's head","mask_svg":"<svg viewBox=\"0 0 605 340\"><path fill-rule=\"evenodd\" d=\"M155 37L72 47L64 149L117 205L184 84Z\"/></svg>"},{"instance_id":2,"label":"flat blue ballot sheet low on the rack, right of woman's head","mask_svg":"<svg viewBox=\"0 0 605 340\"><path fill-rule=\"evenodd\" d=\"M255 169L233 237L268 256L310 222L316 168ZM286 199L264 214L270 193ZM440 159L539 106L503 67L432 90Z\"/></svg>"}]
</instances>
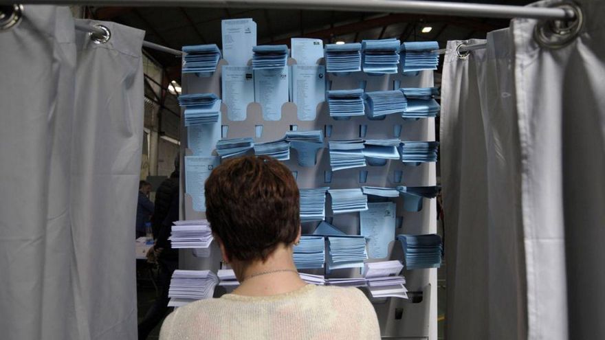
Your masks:
<instances>
[{"instance_id":1,"label":"flat blue ballot sheet low on the rack, right of woman's head","mask_svg":"<svg viewBox=\"0 0 605 340\"><path fill-rule=\"evenodd\" d=\"M395 239L395 203L368 203L360 212L360 234L368 240L371 258L386 258L388 244Z\"/></svg>"}]
</instances>

